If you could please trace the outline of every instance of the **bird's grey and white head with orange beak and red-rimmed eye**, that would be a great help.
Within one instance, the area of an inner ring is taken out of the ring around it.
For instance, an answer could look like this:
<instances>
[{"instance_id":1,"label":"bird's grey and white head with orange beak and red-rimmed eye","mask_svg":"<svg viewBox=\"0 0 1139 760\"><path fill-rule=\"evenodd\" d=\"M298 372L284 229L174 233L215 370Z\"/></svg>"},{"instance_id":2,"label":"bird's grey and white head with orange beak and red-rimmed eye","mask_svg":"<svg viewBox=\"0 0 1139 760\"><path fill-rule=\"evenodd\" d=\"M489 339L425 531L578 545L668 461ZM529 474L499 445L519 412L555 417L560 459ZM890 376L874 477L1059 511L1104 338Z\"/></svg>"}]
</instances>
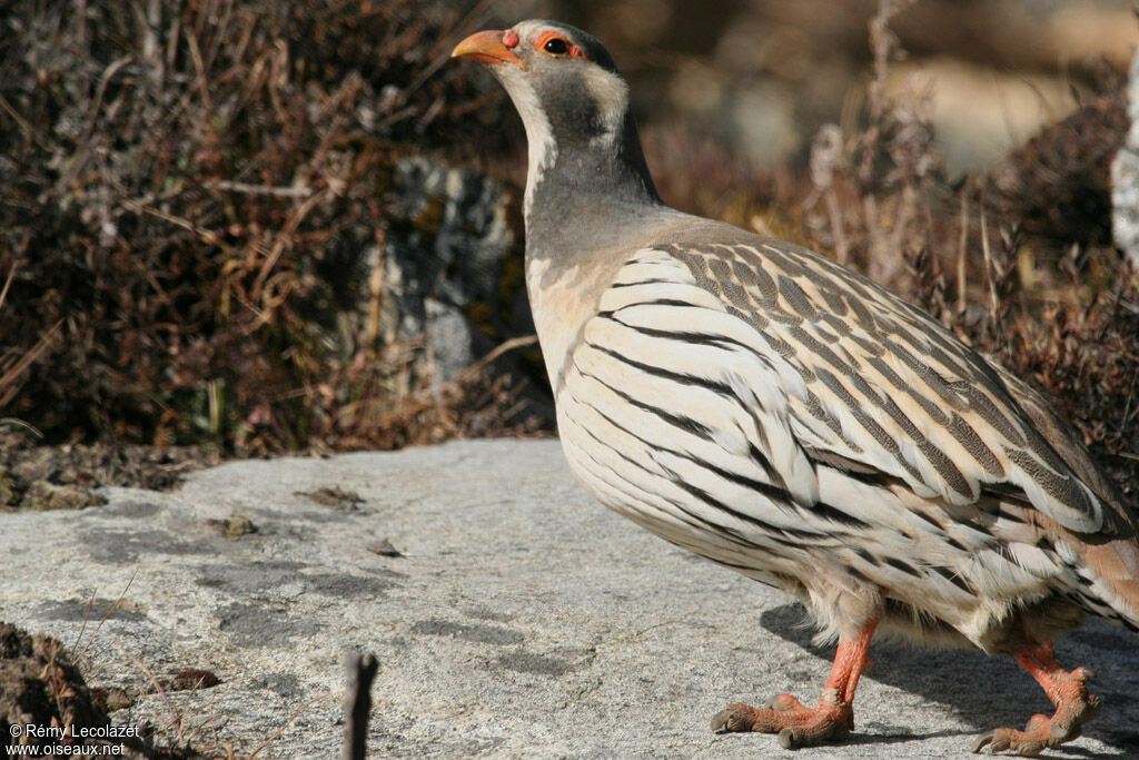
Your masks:
<instances>
[{"instance_id":1,"label":"bird's grey and white head with orange beak and red-rimmed eye","mask_svg":"<svg viewBox=\"0 0 1139 760\"><path fill-rule=\"evenodd\" d=\"M622 139L629 88L601 43L580 28L532 19L472 34L451 54L486 64L514 100L534 147Z\"/></svg>"}]
</instances>

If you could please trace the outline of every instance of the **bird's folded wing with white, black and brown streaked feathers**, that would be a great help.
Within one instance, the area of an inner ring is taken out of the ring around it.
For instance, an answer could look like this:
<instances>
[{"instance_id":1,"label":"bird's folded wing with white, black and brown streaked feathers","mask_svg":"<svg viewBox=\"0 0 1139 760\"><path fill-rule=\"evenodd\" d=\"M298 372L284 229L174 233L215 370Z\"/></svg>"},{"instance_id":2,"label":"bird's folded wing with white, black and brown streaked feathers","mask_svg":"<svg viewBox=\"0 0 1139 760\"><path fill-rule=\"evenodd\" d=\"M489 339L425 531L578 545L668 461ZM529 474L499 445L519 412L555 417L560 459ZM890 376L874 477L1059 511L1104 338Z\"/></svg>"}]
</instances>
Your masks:
<instances>
[{"instance_id":1,"label":"bird's folded wing with white, black and brown streaked feathers","mask_svg":"<svg viewBox=\"0 0 1139 760\"><path fill-rule=\"evenodd\" d=\"M816 505L823 464L900 479L949 505L1022 493L1072 531L1101 529L1099 499L1002 370L870 280L755 239L638 252L584 328L574 362L613 414L632 402L639 432L688 433L657 466L695 488L735 483L731 504L754 502L764 520L772 501L748 490Z\"/></svg>"}]
</instances>

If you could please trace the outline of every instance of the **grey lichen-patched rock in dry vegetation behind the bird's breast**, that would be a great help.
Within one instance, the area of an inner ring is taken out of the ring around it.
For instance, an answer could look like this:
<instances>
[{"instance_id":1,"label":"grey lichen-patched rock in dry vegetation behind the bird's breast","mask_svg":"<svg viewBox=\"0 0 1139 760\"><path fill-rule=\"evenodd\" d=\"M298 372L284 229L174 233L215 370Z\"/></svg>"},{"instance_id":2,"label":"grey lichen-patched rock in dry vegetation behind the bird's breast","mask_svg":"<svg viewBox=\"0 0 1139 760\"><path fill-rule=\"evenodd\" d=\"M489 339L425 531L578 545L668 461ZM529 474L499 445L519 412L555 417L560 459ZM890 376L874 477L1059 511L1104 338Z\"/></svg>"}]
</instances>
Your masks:
<instances>
[{"instance_id":1,"label":"grey lichen-patched rock in dry vegetation behind the bird's breast","mask_svg":"<svg viewBox=\"0 0 1139 760\"><path fill-rule=\"evenodd\" d=\"M314 341L342 357L386 352L407 392L533 333L508 185L423 155L377 183L390 206L378 227L337 230L302 267Z\"/></svg>"}]
</instances>

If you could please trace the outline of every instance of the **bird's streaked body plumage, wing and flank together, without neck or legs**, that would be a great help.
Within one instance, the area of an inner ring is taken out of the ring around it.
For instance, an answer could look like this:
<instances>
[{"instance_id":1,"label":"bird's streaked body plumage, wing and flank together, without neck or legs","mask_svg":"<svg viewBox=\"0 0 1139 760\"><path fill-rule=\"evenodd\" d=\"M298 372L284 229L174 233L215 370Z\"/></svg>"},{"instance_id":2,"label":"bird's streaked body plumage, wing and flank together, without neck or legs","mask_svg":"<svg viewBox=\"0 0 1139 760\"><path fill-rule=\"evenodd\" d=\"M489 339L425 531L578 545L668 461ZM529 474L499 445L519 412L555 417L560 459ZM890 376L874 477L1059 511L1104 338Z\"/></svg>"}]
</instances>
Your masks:
<instances>
[{"instance_id":1,"label":"bird's streaked body plumage, wing and flank together, without neck or legs","mask_svg":"<svg viewBox=\"0 0 1139 760\"><path fill-rule=\"evenodd\" d=\"M1077 443L1046 439L1018 402L1039 399L1006 379L872 283L755 238L638 251L557 402L570 461L603 501L798 594L831 632L862 622L843 622L836 589L891 600L920 628L907 632L982 648L1046 600L1071 624L1072 606L1136 624L1133 591L1113 590L1123 573L1072 549L1105 522L1067 464Z\"/></svg>"}]
</instances>

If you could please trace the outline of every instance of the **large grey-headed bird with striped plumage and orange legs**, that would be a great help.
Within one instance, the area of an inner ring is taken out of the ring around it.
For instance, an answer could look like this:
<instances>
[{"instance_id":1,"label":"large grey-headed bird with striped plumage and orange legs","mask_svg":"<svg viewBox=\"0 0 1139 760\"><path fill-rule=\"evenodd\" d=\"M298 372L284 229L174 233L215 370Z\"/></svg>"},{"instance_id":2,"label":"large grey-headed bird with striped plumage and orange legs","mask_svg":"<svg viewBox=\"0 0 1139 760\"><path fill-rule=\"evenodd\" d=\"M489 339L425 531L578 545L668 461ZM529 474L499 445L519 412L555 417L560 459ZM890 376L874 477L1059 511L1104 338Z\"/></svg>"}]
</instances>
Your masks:
<instances>
[{"instance_id":1,"label":"large grey-headed bird with striped plumage and orange legs","mask_svg":"<svg viewBox=\"0 0 1139 760\"><path fill-rule=\"evenodd\" d=\"M974 752L1038 754L1100 700L1052 638L1139 630L1139 515L1026 383L872 280L666 205L629 87L554 21L473 34L527 141L525 280L571 469L666 541L797 597L837 639L816 706L712 729L839 742L876 632L1023 665L1055 705Z\"/></svg>"}]
</instances>

